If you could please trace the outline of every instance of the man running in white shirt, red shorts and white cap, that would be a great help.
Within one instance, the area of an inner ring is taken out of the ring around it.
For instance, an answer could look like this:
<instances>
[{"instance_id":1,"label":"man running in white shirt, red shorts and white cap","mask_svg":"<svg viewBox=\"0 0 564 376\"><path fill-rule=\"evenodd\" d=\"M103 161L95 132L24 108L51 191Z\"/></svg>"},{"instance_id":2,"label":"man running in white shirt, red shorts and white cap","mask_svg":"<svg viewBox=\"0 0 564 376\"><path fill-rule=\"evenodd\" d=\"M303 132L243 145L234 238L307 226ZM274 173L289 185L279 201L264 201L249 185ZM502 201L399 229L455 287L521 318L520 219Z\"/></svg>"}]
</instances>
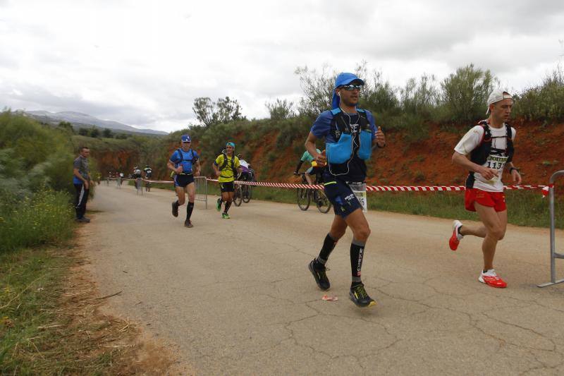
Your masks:
<instances>
[{"instance_id":1,"label":"man running in white shirt, red shorts and white cap","mask_svg":"<svg viewBox=\"0 0 564 376\"><path fill-rule=\"evenodd\" d=\"M489 118L480 121L462 137L454 148L453 163L470 171L466 181L466 210L477 212L482 226L465 226L458 220L453 222L453 234L448 245L456 250L465 235L484 238L484 269L478 281L493 287L507 287L494 269L496 245L503 239L507 227L507 207L501 176L505 166L513 182L521 183L519 170L513 166L513 140L516 131L508 121L513 99L508 92L494 90L488 98Z\"/></svg>"}]
</instances>

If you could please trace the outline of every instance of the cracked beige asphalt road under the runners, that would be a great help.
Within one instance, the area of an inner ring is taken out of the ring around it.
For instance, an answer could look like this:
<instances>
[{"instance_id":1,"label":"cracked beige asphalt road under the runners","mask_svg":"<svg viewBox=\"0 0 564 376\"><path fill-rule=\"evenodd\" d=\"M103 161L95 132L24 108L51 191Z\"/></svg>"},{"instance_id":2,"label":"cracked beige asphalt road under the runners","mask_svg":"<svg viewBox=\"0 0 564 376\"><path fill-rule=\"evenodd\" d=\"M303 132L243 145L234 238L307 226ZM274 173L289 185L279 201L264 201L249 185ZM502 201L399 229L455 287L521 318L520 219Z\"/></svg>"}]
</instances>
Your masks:
<instances>
[{"instance_id":1,"label":"cracked beige asphalt road under the runners","mask_svg":"<svg viewBox=\"0 0 564 376\"><path fill-rule=\"evenodd\" d=\"M378 305L361 309L348 300L350 231L328 263L338 301L307 270L332 214L251 201L221 219L210 196L186 229L173 198L99 186L85 244L100 292L123 291L111 309L198 375L564 374L564 284L536 286L549 279L546 229L508 226L496 257L508 288L494 289L477 281L479 239L448 248L451 221L369 212L362 275Z\"/></svg>"}]
</instances>

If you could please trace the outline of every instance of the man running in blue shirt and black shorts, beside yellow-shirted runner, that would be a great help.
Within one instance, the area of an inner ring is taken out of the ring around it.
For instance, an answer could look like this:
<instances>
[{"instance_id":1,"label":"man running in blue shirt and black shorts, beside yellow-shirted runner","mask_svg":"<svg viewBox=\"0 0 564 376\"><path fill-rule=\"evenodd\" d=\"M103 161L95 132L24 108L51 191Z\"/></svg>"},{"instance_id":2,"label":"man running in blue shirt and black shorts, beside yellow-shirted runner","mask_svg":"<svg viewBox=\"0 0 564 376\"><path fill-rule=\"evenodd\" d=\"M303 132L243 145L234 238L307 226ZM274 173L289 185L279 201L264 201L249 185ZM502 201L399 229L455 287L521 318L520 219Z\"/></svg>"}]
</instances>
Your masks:
<instances>
[{"instance_id":1,"label":"man running in blue shirt and black shorts, beside yellow-shirted runner","mask_svg":"<svg viewBox=\"0 0 564 376\"><path fill-rule=\"evenodd\" d=\"M173 152L166 166L173 171L174 187L178 196L178 200L172 203L172 215L178 217L178 207L184 205L184 193L188 193L188 207L186 208L184 226L190 228L193 227L190 217L192 217L196 198L194 176L200 176L200 156L190 147L192 139L189 135L182 135L180 142L182 147Z\"/></svg>"}]
</instances>

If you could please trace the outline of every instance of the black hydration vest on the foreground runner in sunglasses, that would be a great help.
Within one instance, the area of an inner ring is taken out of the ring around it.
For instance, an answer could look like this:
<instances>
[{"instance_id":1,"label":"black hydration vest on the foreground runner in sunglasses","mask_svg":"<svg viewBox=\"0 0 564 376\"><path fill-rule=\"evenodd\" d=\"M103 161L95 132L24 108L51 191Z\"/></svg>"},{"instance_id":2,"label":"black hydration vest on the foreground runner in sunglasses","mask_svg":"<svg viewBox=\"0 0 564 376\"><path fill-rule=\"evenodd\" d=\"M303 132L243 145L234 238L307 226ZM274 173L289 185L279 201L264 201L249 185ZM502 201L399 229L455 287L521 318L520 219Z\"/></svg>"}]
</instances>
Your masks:
<instances>
[{"instance_id":1,"label":"black hydration vest on the foreground runner in sunglasses","mask_svg":"<svg viewBox=\"0 0 564 376\"><path fill-rule=\"evenodd\" d=\"M338 139L341 138L342 133L353 134L353 130L350 129L348 123L349 117L347 114L345 114L341 109L332 109L331 114L333 114L333 119L331 120L329 133L331 133L333 138L335 138L335 141L338 141ZM366 176L366 163L357 156L357 152L360 147L360 132L370 130L370 123L368 121L366 111L363 109L357 109L357 114L360 129L357 129L353 136L353 155L345 163L333 163L331 166L329 166L328 163L327 165L330 167L330 174L332 175L347 174L347 171L350 172L350 164L355 163L358 164L358 167L362 171L364 177Z\"/></svg>"}]
</instances>

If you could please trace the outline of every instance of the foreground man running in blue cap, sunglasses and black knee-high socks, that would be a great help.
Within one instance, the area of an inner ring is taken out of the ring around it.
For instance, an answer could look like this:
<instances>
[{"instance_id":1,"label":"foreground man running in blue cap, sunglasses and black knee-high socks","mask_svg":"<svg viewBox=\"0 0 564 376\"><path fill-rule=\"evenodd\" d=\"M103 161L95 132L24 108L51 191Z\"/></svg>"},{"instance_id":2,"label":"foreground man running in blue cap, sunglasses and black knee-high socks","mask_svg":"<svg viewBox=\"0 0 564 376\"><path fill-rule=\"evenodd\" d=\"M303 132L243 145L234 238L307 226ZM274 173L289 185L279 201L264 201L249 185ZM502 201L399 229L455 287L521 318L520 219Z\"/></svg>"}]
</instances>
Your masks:
<instances>
[{"instance_id":1,"label":"foreground man running in blue cap, sunglasses and black knee-high socks","mask_svg":"<svg viewBox=\"0 0 564 376\"><path fill-rule=\"evenodd\" d=\"M364 245L370 235L363 212L367 208L365 161L370 159L373 147L386 146L386 138L380 127L376 130L372 114L357 108L363 85L364 81L353 73L339 74L333 89L332 109L321 112L305 141L305 148L315 161L326 164L325 194L335 211L319 256L309 262L308 267L317 286L328 290L331 284L326 276L326 262L337 241L350 227L353 231L353 243L350 244L353 281L349 296L359 307L370 307L376 302L368 296L360 278ZM325 138L326 150L319 153L316 142L321 138Z\"/></svg>"}]
</instances>

